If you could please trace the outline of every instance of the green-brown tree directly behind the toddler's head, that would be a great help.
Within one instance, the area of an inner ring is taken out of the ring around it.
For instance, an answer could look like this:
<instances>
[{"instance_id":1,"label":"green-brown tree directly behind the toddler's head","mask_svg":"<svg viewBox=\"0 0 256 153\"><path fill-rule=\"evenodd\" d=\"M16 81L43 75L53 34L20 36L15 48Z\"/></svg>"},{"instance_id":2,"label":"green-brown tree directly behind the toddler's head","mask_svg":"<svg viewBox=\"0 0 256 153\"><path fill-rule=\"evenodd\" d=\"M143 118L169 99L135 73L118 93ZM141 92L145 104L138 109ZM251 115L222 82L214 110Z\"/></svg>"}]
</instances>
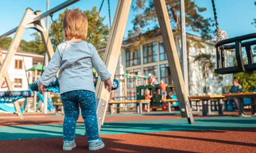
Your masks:
<instances>
[{"instance_id":1,"label":"green-brown tree directly behind the toddler's head","mask_svg":"<svg viewBox=\"0 0 256 153\"><path fill-rule=\"evenodd\" d=\"M68 9L66 9L63 13L60 13L59 17L56 20L54 20L54 24L55 24L57 33L59 35L60 42L63 42L63 40L64 40L63 31L62 31L62 20L65 15L65 12L67 12L67 11L68 11ZM91 34L91 30L93 28L93 24L95 22L97 14L98 14L98 11L97 11L96 7L93 7L93 9L91 11L86 10L86 11L83 11L83 13L86 14L87 19L88 19L88 34L87 34L88 37L86 39L84 39L84 41L88 41L89 36ZM102 23L104 19L105 19L105 16L98 18L97 24L95 26L95 29L94 29L94 32L92 35L92 39L90 41L90 43L92 43L96 47L96 49L105 47L106 43L108 42L110 29L109 29L108 25L104 25ZM53 26L54 25L52 23L50 37L51 37L52 44L55 49L56 46L59 45L60 42L57 38L57 35L56 35L56 32L55 32Z\"/></svg>"}]
</instances>

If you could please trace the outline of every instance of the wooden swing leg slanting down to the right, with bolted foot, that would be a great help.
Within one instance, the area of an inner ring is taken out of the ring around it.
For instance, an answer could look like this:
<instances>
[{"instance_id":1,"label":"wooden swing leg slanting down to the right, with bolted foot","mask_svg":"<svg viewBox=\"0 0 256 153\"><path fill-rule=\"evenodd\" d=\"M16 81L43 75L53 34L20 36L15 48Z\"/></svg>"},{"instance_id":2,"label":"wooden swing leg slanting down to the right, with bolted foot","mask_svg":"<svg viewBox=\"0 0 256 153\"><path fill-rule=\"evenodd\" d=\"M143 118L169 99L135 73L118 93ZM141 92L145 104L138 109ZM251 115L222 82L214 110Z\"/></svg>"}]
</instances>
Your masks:
<instances>
[{"instance_id":1,"label":"wooden swing leg slanting down to the right, with bolted foot","mask_svg":"<svg viewBox=\"0 0 256 153\"><path fill-rule=\"evenodd\" d=\"M161 34L163 37L164 50L168 50L166 52L166 55L169 63L170 73L172 74L174 80L175 91L177 93L177 98L179 101L179 108L180 110L185 110L184 112L181 111L181 116L187 117L188 122L194 124L194 119L184 85L181 66L175 45L172 27L170 25L166 3L165 0L154 0L154 3L161 29Z\"/></svg>"}]
</instances>

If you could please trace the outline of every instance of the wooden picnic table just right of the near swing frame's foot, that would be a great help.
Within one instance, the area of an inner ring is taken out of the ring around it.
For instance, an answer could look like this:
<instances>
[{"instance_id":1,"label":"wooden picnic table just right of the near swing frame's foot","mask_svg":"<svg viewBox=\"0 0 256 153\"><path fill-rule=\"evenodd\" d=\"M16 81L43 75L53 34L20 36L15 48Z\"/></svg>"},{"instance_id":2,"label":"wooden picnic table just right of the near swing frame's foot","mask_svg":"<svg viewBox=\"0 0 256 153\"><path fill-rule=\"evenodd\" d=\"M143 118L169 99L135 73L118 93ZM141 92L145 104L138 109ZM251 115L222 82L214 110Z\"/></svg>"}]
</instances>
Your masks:
<instances>
[{"instance_id":1,"label":"wooden picnic table just right of the near swing frame's foot","mask_svg":"<svg viewBox=\"0 0 256 153\"><path fill-rule=\"evenodd\" d=\"M201 95L201 96L189 96L189 101L196 101L197 102L197 109L199 109L199 101L203 101L203 109L202 109L202 116L209 116L209 115L215 115L215 116L222 116L226 115L223 114L223 98L225 96L223 95ZM211 100L218 100L218 115L211 113Z\"/></svg>"}]
</instances>

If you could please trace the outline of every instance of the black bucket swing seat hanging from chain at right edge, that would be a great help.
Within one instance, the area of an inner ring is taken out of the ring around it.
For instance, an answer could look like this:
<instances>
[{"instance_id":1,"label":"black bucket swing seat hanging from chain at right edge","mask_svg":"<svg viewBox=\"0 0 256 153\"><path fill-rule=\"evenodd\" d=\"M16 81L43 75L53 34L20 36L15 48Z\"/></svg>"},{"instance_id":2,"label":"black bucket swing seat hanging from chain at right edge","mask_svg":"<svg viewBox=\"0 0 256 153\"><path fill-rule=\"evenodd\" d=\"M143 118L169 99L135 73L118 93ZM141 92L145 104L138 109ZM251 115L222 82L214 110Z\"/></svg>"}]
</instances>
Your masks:
<instances>
[{"instance_id":1,"label":"black bucket swing seat hanging from chain at right edge","mask_svg":"<svg viewBox=\"0 0 256 153\"><path fill-rule=\"evenodd\" d=\"M217 58L217 69L214 70L215 73L230 74L230 73L244 72L247 74L253 74L253 71L256 70L256 63L253 63L251 45L255 45L256 40L242 42L244 40L253 39L253 38L256 38L256 33L229 38L229 39L225 39L217 42L215 44L216 58ZM235 44L228 45L229 43L235 43ZM245 47L248 64L243 63L242 47ZM225 56L224 56L225 49L236 50L235 53L236 53L238 66L225 67Z\"/></svg>"}]
</instances>

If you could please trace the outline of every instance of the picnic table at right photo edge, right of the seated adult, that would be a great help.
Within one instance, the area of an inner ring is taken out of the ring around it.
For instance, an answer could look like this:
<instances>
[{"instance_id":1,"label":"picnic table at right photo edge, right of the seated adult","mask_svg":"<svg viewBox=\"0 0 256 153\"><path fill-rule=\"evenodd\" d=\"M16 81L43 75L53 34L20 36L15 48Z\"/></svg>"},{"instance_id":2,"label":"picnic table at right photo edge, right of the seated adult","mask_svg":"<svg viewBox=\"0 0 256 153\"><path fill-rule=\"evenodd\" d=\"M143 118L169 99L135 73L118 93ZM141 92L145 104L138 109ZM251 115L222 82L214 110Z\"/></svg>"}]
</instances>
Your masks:
<instances>
[{"instance_id":1,"label":"picnic table at right photo edge, right of the seated adult","mask_svg":"<svg viewBox=\"0 0 256 153\"><path fill-rule=\"evenodd\" d=\"M239 103L239 115L240 117L247 117L248 115L244 114L244 98L250 98L251 104L251 116L256 116L256 92L240 92L240 93L227 93L222 94L226 98L238 98Z\"/></svg>"}]
</instances>

